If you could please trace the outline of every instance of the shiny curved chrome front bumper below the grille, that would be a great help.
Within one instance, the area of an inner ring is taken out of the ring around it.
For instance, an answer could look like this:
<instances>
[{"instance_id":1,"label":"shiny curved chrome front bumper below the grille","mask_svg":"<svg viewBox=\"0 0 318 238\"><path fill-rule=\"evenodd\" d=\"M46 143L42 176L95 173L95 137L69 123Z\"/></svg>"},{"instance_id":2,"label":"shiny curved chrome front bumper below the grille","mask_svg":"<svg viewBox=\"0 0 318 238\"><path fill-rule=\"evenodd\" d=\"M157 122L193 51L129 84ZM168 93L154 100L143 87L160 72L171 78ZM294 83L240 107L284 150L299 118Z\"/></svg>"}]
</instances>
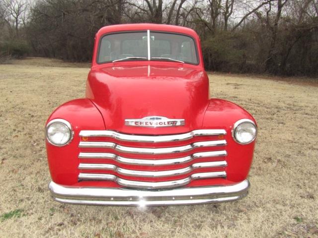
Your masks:
<instances>
[{"instance_id":1,"label":"shiny curved chrome front bumper below the grille","mask_svg":"<svg viewBox=\"0 0 318 238\"><path fill-rule=\"evenodd\" d=\"M53 181L49 189L53 199L62 203L104 206L176 206L234 201L247 195L247 179L233 185L186 187L171 190L72 187Z\"/></svg>"}]
</instances>

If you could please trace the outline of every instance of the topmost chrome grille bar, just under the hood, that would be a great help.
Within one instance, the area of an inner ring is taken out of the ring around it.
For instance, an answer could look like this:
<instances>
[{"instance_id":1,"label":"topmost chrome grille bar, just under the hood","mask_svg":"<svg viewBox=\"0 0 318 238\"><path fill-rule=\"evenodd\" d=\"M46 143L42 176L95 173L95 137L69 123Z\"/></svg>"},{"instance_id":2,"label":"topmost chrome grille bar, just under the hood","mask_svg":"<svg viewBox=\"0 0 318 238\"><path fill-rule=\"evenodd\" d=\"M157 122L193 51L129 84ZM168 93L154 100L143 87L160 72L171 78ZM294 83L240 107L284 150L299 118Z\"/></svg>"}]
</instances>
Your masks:
<instances>
[{"instance_id":1,"label":"topmost chrome grille bar, just under the hood","mask_svg":"<svg viewBox=\"0 0 318 238\"><path fill-rule=\"evenodd\" d=\"M227 132L224 129L200 129L176 135L130 135L122 134L112 130L81 130L79 132L79 136L82 137L111 137L122 141L150 143L182 141L192 139L195 136L212 136L226 134Z\"/></svg>"}]
</instances>

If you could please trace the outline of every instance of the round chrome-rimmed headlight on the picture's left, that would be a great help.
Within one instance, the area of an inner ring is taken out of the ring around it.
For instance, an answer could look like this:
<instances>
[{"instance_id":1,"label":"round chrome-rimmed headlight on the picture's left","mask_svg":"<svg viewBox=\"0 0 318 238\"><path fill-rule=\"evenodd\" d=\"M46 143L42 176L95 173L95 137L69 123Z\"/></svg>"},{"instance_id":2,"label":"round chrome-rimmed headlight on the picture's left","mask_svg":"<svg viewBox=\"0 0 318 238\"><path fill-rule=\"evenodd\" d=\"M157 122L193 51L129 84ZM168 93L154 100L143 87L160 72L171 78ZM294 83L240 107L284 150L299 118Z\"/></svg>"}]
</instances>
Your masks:
<instances>
[{"instance_id":1,"label":"round chrome-rimmed headlight on the picture's left","mask_svg":"<svg viewBox=\"0 0 318 238\"><path fill-rule=\"evenodd\" d=\"M52 145L67 145L73 138L70 122L64 119L51 120L46 126L46 138Z\"/></svg>"}]
</instances>

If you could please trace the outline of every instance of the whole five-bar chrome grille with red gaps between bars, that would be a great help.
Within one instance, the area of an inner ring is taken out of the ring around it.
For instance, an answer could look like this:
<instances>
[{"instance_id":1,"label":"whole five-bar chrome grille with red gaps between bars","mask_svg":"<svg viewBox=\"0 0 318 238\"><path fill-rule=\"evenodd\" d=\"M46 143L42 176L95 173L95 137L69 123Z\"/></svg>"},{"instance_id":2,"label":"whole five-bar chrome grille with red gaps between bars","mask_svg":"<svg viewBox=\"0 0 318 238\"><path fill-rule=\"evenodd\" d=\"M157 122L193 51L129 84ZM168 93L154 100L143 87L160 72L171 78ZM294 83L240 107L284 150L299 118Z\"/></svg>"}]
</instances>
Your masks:
<instances>
[{"instance_id":1,"label":"whole five-bar chrome grille with red gaps between bars","mask_svg":"<svg viewBox=\"0 0 318 238\"><path fill-rule=\"evenodd\" d=\"M224 129L159 136L82 130L79 180L154 189L182 186L195 179L225 178L225 135Z\"/></svg>"}]
</instances>

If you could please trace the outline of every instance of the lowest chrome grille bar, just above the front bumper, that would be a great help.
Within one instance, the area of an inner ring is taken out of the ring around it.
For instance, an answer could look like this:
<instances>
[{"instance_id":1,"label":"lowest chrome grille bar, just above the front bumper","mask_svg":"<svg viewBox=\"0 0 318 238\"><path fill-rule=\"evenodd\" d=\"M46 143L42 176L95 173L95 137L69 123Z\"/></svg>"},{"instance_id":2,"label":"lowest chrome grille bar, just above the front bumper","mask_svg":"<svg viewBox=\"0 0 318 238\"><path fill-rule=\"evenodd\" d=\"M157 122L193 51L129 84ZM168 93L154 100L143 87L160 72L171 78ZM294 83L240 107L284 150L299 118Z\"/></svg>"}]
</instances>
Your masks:
<instances>
[{"instance_id":1,"label":"lowest chrome grille bar, just above the front bumper","mask_svg":"<svg viewBox=\"0 0 318 238\"><path fill-rule=\"evenodd\" d=\"M206 174L206 175L204 175ZM128 179L121 179L115 175L109 174L85 174L79 173L79 180L110 180L115 181L118 184L126 187L137 187L137 188L172 188L177 186L182 186L190 183L194 179L207 179L207 178L226 178L226 172L208 172L193 174L185 179L178 179L172 181L162 181L162 182L145 182L145 181L134 181Z\"/></svg>"}]
</instances>

